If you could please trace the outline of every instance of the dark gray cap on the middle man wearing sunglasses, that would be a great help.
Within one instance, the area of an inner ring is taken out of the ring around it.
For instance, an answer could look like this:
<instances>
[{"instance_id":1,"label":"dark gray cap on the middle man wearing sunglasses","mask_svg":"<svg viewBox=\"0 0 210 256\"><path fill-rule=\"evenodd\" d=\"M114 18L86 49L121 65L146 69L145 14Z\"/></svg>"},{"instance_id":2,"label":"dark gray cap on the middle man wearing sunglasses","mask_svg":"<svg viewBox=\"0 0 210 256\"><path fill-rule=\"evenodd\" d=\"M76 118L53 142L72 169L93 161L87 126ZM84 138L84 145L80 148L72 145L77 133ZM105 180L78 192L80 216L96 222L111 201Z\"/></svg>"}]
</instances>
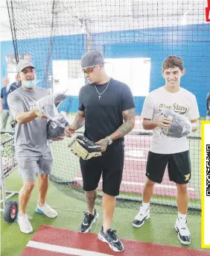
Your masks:
<instances>
[{"instance_id":1,"label":"dark gray cap on the middle man wearing sunglasses","mask_svg":"<svg viewBox=\"0 0 210 256\"><path fill-rule=\"evenodd\" d=\"M104 63L104 57L100 51L88 51L81 58L82 69Z\"/></svg>"}]
</instances>

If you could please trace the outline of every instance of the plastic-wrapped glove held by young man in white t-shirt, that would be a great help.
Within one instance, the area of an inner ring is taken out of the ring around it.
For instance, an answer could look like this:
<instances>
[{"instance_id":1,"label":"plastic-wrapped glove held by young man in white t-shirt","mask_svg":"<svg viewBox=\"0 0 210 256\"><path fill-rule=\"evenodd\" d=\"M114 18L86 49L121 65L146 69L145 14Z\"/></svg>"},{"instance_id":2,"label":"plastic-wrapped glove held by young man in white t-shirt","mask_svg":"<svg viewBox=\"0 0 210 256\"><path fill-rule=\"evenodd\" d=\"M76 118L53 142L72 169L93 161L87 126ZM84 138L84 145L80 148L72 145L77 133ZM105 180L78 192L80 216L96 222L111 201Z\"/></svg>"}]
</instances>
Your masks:
<instances>
[{"instance_id":1,"label":"plastic-wrapped glove held by young man in white t-shirt","mask_svg":"<svg viewBox=\"0 0 210 256\"><path fill-rule=\"evenodd\" d=\"M163 116L170 118L172 125L168 129L162 128L162 134L168 137L181 138L191 133L191 122L185 116L168 109L163 111Z\"/></svg>"}]
</instances>

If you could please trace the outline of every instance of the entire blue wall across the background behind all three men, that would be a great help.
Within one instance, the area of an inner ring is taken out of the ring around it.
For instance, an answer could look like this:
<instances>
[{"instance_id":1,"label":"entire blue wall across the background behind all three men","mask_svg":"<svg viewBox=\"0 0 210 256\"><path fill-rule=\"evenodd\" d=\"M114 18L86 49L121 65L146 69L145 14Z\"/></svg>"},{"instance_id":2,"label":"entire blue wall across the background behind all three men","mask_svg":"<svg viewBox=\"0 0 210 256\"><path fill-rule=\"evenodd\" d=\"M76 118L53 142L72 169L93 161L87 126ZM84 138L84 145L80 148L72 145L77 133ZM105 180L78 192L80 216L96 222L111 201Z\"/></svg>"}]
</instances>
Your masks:
<instances>
[{"instance_id":1,"label":"entire blue wall across the background behind all three men","mask_svg":"<svg viewBox=\"0 0 210 256\"><path fill-rule=\"evenodd\" d=\"M51 57L48 59L49 45ZM51 87L45 73L51 74L52 60L80 59L86 52L86 36L74 35L18 41L19 54L31 54L36 65L39 86ZM164 84L161 75L162 60L177 54L184 60L186 73L181 85L197 97L200 115L206 115L206 95L210 91L210 26L188 25L171 28L146 28L136 31L112 31L92 35L92 49L98 49L105 57L150 57L150 90ZM1 42L1 76L7 75L5 54L13 54L12 42ZM46 65L49 61L49 65ZM46 70L48 66L48 70ZM139 86L141 78L139 78ZM136 113L141 113L144 97L135 97ZM60 110L77 111L77 97L68 97Z\"/></svg>"}]
</instances>

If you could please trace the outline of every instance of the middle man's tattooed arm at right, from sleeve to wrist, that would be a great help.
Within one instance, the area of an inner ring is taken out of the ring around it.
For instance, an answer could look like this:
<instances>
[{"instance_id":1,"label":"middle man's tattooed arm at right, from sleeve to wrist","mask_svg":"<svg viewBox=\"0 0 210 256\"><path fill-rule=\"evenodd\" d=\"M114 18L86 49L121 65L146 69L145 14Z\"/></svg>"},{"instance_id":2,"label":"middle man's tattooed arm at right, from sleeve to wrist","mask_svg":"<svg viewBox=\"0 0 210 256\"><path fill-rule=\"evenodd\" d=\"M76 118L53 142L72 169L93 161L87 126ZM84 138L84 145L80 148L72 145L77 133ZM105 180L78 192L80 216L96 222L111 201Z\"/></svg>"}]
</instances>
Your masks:
<instances>
[{"instance_id":1,"label":"middle man's tattooed arm at right, from sleeve to wrist","mask_svg":"<svg viewBox=\"0 0 210 256\"><path fill-rule=\"evenodd\" d=\"M135 126L135 108L125 110L122 114L124 123L113 134L110 135L112 140L117 140L118 138L124 137L126 134L132 131Z\"/></svg>"}]
</instances>

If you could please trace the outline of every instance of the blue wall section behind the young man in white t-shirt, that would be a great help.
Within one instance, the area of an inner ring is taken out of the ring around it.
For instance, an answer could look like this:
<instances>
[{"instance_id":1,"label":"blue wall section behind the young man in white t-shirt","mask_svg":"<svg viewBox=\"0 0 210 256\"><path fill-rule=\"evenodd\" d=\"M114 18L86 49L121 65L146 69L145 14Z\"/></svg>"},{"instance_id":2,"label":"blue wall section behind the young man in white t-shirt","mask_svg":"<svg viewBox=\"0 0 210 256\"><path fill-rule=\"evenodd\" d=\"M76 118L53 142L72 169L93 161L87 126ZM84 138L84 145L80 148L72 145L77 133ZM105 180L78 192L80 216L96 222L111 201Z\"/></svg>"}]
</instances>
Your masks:
<instances>
[{"instance_id":1,"label":"blue wall section behind the young man in white t-shirt","mask_svg":"<svg viewBox=\"0 0 210 256\"><path fill-rule=\"evenodd\" d=\"M194 93L200 115L206 116L206 95L210 91L210 25L188 25L147 28L138 31L116 31L95 34L95 49L105 57L150 57L150 91L161 87L162 60L176 54L186 69L181 86ZM139 78L139 86L141 78ZM135 97L136 113L141 113L144 97Z\"/></svg>"}]
</instances>

